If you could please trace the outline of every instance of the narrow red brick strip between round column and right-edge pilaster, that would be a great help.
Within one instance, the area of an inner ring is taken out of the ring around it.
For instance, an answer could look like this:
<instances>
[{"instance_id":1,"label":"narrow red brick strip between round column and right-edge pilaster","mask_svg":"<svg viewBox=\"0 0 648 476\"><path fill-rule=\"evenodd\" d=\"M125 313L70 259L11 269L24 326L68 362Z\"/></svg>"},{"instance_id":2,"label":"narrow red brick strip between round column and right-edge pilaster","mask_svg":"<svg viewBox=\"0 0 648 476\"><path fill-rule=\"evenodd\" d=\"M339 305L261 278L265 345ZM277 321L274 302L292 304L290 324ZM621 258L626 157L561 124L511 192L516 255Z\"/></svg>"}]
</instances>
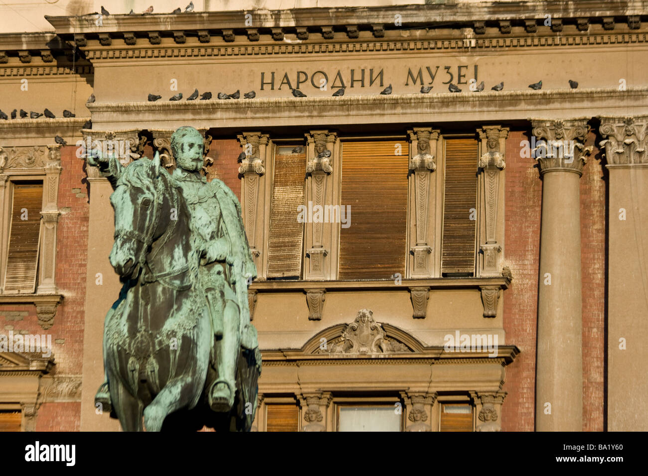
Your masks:
<instances>
[{"instance_id":1,"label":"narrow red brick strip between round column and right-edge pilaster","mask_svg":"<svg viewBox=\"0 0 648 476\"><path fill-rule=\"evenodd\" d=\"M607 180L594 146L581 177L581 269L583 270L583 431L603 431L605 367L605 196Z\"/></svg>"}]
</instances>

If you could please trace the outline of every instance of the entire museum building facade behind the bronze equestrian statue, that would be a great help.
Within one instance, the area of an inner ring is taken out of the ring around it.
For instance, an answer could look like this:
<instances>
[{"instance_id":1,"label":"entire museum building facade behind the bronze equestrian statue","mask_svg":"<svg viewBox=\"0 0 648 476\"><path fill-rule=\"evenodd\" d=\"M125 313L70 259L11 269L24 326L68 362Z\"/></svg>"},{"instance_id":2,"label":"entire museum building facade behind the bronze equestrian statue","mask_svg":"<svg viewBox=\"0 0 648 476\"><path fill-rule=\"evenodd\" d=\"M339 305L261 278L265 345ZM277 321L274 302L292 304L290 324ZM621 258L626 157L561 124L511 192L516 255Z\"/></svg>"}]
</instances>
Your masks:
<instances>
[{"instance_id":1,"label":"entire museum building facade behind the bronze equestrian statue","mask_svg":"<svg viewBox=\"0 0 648 476\"><path fill-rule=\"evenodd\" d=\"M171 170L187 125L257 266L258 431L648 429L645 1L122 3L0 35L1 429L119 429L85 157Z\"/></svg>"}]
</instances>

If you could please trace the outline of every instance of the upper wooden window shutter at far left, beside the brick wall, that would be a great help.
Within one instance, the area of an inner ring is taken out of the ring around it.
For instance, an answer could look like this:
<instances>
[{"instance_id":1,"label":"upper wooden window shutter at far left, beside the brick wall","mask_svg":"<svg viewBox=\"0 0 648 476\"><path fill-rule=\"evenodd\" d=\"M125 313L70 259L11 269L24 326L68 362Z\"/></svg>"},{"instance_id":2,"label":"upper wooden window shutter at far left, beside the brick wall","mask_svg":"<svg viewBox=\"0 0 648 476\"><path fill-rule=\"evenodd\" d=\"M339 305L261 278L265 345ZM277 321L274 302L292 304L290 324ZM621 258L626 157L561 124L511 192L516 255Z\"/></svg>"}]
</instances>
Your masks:
<instances>
[{"instance_id":1,"label":"upper wooden window shutter at far left, beside the brick wall","mask_svg":"<svg viewBox=\"0 0 648 476\"><path fill-rule=\"evenodd\" d=\"M36 287L43 183L14 183L5 268L5 292L33 293ZM27 220L25 217L27 209Z\"/></svg>"}]
</instances>

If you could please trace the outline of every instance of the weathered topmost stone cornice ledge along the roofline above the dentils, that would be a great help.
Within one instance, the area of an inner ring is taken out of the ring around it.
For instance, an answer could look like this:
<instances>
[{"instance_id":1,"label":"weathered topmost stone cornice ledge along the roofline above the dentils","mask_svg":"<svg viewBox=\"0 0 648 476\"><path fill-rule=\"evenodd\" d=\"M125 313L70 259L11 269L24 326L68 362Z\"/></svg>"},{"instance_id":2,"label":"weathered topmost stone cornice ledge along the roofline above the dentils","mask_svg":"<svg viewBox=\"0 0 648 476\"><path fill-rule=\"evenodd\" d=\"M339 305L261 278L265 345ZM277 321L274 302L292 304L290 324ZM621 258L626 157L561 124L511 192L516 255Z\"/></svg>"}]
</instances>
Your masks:
<instances>
[{"instance_id":1,"label":"weathered topmost stone cornice ledge along the roofline above the dentils","mask_svg":"<svg viewBox=\"0 0 648 476\"><path fill-rule=\"evenodd\" d=\"M244 27L244 14L251 14L255 28L311 27L323 25L393 25L394 16L399 14L402 25L439 25L467 21L511 20L524 27L530 19L543 19L545 14L552 18L590 19L590 17L627 17L645 15L648 4L644 0L616 1L610 5L600 0L582 1L512 1L512 2L448 2L435 5L395 5L353 8L292 8L290 10L231 10L226 12L194 12L191 14L111 15L103 17L102 31L150 30L152 25L168 25L173 30L187 28ZM82 17L45 16L56 28L58 34L75 34L97 31L96 15ZM541 23L538 21L538 23ZM602 21L601 21L602 23ZM581 25L582 25L581 20Z\"/></svg>"}]
</instances>

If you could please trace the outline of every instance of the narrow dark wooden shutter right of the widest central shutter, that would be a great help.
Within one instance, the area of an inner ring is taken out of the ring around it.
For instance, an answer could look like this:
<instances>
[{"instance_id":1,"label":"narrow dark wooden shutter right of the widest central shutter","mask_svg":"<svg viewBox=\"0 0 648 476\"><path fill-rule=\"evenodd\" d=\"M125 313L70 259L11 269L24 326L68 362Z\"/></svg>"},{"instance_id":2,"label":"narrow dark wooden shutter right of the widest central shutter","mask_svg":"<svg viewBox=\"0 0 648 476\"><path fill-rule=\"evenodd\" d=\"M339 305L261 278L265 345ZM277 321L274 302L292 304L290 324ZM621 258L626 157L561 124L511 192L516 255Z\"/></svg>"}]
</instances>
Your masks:
<instances>
[{"instance_id":1,"label":"narrow dark wooden shutter right of the widest central shutter","mask_svg":"<svg viewBox=\"0 0 648 476\"><path fill-rule=\"evenodd\" d=\"M446 139L445 196L443 199L443 246L441 273L472 276L475 268L477 203L477 141Z\"/></svg>"}]
</instances>

